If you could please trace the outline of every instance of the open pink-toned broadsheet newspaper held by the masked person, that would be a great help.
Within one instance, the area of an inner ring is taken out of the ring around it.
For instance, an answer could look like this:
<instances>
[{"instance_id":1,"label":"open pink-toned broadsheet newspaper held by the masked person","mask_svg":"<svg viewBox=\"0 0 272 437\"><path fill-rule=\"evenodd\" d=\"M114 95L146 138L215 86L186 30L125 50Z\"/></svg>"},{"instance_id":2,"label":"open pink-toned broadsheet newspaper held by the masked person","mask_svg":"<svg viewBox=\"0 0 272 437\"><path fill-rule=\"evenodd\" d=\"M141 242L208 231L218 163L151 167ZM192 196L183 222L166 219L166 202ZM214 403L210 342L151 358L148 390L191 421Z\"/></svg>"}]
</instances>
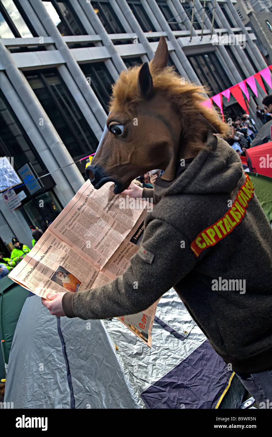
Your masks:
<instances>
[{"instance_id":1,"label":"open pink-toned broadsheet newspaper held by the masked person","mask_svg":"<svg viewBox=\"0 0 272 437\"><path fill-rule=\"evenodd\" d=\"M115 195L113 187L108 182L96 190L86 181L10 272L10 279L46 298L96 288L123 274L138 250L150 204ZM137 288L137 284L132 286ZM157 303L138 314L117 318L149 347Z\"/></svg>"}]
</instances>

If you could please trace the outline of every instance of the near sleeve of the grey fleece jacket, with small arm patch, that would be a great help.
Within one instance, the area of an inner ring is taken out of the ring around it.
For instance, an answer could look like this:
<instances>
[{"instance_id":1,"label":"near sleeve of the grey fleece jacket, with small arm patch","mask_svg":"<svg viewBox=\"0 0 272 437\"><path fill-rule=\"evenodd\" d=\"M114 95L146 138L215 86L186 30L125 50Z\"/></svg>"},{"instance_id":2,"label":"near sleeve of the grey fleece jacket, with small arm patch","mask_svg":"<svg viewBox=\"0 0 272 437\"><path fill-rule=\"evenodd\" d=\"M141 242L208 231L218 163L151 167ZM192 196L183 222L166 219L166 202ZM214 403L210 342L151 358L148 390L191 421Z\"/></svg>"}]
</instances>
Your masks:
<instances>
[{"instance_id":1,"label":"near sleeve of the grey fleece jacket, with small arm patch","mask_svg":"<svg viewBox=\"0 0 272 437\"><path fill-rule=\"evenodd\" d=\"M152 219L124 274L98 288L65 293L62 298L65 315L107 319L147 309L196 264L190 243L168 222Z\"/></svg>"}]
</instances>

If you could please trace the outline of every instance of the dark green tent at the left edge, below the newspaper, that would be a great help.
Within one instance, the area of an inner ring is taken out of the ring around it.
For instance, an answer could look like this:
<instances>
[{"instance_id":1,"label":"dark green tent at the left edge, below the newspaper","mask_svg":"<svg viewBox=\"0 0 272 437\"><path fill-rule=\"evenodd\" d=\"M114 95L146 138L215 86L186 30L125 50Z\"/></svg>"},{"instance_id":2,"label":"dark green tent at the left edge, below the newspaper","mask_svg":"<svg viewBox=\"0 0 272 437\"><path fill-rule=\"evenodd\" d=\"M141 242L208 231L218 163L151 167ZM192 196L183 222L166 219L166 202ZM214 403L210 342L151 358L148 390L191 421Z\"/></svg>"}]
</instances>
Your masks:
<instances>
[{"instance_id":1,"label":"dark green tent at the left edge, below the newspaper","mask_svg":"<svg viewBox=\"0 0 272 437\"><path fill-rule=\"evenodd\" d=\"M29 291L9 277L0 280L0 379L6 378L4 363L8 363L14 331L28 295Z\"/></svg>"}]
</instances>

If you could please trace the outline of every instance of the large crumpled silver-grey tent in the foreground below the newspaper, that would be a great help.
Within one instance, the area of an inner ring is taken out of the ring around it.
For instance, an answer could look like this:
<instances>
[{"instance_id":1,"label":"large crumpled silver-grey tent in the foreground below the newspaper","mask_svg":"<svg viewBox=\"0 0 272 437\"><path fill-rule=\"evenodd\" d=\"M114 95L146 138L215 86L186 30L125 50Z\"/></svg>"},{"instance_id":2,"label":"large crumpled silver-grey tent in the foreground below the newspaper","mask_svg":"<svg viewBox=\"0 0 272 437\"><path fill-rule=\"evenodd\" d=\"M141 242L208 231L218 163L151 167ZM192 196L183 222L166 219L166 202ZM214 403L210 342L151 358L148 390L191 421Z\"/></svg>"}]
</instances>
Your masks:
<instances>
[{"instance_id":1,"label":"large crumpled silver-grey tent in the foreground below the newspaper","mask_svg":"<svg viewBox=\"0 0 272 437\"><path fill-rule=\"evenodd\" d=\"M169 372L182 369L182 363L186 364L194 351L203 343L207 344L206 337L174 289L162 296L156 316L178 333L179 338L154 321L152 347L149 348L117 319L57 318L41 305L38 296L28 297L10 350L4 401L14 402L14 408L70 409L72 385L76 409L152 408L146 404L143 393L167 378ZM63 342L58 333L58 319ZM201 399L203 396L210 398L210 387L212 396L218 401L230 375L220 357L210 363L207 361L210 354L211 350L203 359L198 354L202 388L199 392L195 390L194 408L204 408ZM71 375L70 385L65 357ZM195 368L196 373L191 372L189 378L189 368L185 367L188 392L196 387L197 371ZM165 408L161 404L160 408ZM210 405L214 406L214 402Z\"/></svg>"}]
</instances>

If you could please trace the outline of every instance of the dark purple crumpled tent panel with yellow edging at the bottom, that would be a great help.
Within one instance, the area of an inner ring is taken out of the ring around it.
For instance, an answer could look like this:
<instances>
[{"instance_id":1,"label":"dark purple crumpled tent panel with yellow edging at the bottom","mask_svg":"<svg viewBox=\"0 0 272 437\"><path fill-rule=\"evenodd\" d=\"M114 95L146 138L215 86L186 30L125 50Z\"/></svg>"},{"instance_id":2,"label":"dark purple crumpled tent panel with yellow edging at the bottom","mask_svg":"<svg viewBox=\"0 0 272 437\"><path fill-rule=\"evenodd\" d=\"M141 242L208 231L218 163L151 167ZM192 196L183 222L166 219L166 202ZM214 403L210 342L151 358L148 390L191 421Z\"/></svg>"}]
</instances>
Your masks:
<instances>
[{"instance_id":1,"label":"dark purple crumpled tent panel with yellow edging at the bottom","mask_svg":"<svg viewBox=\"0 0 272 437\"><path fill-rule=\"evenodd\" d=\"M224 361L206 340L176 368L145 390L141 397L148 408L214 409L222 385L227 386L232 375L232 371L224 371L225 367ZM242 397L241 394L239 405Z\"/></svg>"}]
</instances>

